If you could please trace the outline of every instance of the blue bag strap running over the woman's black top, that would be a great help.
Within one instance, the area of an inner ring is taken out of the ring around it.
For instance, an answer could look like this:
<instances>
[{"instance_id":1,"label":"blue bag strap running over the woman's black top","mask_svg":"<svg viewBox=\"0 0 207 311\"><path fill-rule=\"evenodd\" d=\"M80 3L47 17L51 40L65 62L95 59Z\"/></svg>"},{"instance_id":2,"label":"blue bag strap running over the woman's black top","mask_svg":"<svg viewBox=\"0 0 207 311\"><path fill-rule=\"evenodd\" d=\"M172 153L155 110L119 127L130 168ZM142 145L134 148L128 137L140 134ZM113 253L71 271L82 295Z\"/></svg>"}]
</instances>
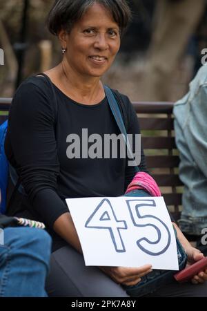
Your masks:
<instances>
[{"instance_id":1,"label":"blue bag strap running over the woman's black top","mask_svg":"<svg viewBox=\"0 0 207 311\"><path fill-rule=\"evenodd\" d=\"M121 112L120 112L119 106L117 104L117 100L115 99L115 96L113 95L112 91L110 90L110 88L108 86L104 86L104 91L106 93L106 97L107 97L110 109L112 111L112 114L114 115L115 120L117 122L117 125L119 126L119 130L124 135L124 142L125 142L126 147L128 149L128 153L130 155L130 158L134 159L134 157L132 155L132 149L131 149L130 143L128 141L128 136L127 136L127 133L126 133L126 128L124 126L123 118L121 116ZM135 162L135 165L134 165L135 171L137 173L140 170L139 170L139 167L138 167L135 159L134 159L134 162Z\"/></svg>"}]
</instances>

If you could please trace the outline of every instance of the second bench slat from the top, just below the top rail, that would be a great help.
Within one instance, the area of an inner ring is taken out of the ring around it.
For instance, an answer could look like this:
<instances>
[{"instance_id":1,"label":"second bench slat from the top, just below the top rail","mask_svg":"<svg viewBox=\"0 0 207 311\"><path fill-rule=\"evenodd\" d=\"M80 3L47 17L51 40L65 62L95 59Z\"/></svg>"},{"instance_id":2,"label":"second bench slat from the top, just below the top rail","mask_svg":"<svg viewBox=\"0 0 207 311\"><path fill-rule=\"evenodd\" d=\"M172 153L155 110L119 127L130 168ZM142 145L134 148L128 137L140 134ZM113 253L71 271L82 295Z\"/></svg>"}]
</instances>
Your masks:
<instances>
[{"instance_id":1,"label":"second bench slat from the top, just below the top rail","mask_svg":"<svg viewBox=\"0 0 207 311\"><path fill-rule=\"evenodd\" d=\"M168 130L174 129L173 119L161 117L139 117L139 125L141 130Z\"/></svg>"}]
</instances>

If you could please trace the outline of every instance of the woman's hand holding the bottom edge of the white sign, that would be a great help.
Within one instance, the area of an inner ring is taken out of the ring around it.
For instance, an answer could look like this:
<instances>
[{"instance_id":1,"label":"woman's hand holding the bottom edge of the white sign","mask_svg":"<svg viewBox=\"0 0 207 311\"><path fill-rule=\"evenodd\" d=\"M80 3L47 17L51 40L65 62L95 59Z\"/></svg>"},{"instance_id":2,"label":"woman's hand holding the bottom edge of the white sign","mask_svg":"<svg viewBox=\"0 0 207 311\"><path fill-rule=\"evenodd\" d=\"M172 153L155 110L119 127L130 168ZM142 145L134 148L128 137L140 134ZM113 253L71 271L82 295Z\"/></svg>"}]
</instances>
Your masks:
<instances>
[{"instance_id":1,"label":"woman's hand holding the bottom edge of the white sign","mask_svg":"<svg viewBox=\"0 0 207 311\"><path fill-rule=\"evenodd\" d=\"M136 285L141 277L152 271L152 265L141 267L99 267L104 273L118 284Z\"/></svg>"}]
</instances>

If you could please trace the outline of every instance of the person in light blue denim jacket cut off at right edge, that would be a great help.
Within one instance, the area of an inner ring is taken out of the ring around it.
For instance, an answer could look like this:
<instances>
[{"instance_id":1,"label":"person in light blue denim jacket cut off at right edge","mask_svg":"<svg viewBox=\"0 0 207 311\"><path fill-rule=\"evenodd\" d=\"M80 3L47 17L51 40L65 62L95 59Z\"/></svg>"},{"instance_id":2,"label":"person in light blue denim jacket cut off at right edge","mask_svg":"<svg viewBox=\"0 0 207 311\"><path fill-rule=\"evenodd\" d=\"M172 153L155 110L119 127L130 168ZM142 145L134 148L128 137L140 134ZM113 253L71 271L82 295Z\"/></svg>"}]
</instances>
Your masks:
<instances>
[{"instance_id":1,"label":"person in light blue denim jacket cut off at right edge","mask_svg":"<svg viewBox=\"0 0 207 311\"><path fill-rule=\"evenodd\" d=\"M179 176L184 182L179 227L202 246L202 230L207 228L206 65L199 69L188 93L175 104L173 113L180 155Z\"/></svg>"}]
</instances>

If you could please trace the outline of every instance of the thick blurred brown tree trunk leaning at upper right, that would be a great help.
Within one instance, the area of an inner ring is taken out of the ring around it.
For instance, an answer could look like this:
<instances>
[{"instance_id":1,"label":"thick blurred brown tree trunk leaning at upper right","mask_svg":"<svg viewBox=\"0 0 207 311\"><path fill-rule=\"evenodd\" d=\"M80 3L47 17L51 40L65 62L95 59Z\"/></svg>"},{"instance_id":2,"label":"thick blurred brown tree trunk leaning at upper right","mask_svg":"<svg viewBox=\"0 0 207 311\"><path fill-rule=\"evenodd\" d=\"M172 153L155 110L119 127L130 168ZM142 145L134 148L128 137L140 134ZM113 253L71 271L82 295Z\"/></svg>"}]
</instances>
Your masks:
<instances>
[{"instance_id":1,"label":"thick blurred brown tree trunk leaning at upper right","mask_svg":"<svg viewBox=\"0 0 207 311\"><path fill-rule=\"evenodd\" d=\"M142 101L176 100L173 79L177 80L176 71L205 6L206 0L157 1L154 31L141 81Z\"/></svg>"}]
</instances>

